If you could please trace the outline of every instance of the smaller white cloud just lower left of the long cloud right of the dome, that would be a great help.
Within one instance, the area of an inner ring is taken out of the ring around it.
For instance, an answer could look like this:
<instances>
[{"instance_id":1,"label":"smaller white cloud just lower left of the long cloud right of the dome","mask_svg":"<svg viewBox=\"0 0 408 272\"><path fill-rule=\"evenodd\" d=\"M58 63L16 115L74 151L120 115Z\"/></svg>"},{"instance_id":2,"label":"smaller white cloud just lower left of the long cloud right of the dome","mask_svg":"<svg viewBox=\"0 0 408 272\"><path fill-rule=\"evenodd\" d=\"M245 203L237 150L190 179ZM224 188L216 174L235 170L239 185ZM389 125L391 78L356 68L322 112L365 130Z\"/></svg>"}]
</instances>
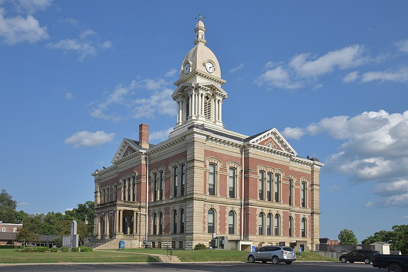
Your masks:
<instances>
[{"instance_id":1,"label":"smaller white cloud just lower left of the long cloud right of the dome","mask_svg":"<svg viewBox=\"0 0 408 272\"><path fill-rule=\"evenodd\" d=\"M256 79L256 83L259 86L266 84L283 89L298 89L301 87L299 83L292 83L288 71L282 66L267 70Z\"/></svg>"}]
</instances>

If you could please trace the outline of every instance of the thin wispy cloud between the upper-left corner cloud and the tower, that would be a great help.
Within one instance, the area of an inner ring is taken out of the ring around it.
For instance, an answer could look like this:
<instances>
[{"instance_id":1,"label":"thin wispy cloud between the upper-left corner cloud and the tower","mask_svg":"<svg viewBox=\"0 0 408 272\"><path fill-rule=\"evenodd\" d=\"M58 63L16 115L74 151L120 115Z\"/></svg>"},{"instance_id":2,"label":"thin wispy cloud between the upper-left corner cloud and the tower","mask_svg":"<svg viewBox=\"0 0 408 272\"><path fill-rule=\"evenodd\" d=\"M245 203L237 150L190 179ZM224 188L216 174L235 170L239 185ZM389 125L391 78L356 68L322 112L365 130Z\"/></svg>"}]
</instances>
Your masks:
<instances>
[{"instance_id":1,"label":"thin wispy cloud between the upper-left corner cloud and the tower","mask_svg":"<svg viewBox=\"0 0 408 272\"><path fill-rule=\"evenodd\" d=\"M98 50L112 47L111 41L98 43L93 37L98 34L91 29L85 30L78 39L63 39L58 42L50 42L46 45L48 49L60 49L65 53L68 51L79 54L78 60L84 61L87 57L95 57Z\"/></svg>"}]
</instances>

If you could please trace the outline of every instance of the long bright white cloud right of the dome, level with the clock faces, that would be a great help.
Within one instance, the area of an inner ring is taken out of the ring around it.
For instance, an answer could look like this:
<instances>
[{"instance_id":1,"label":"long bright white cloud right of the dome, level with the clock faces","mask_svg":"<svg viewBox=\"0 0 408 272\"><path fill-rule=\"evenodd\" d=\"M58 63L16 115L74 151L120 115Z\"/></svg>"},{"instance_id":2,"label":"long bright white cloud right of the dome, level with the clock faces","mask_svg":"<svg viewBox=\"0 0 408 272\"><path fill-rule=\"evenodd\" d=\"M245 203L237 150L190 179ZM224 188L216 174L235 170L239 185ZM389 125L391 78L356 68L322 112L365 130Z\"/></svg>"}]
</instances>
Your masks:
<instances>
[{"instance_id":1,"label":"long bright white cloud right of the dome, level with the clock faces","mask_svg":"<svg viewBox=\"0 0 408 272\"><path fill-rule=\"evenodd\" d=\"M361 65L364 47L351 45L316 58L311 53L302 53L292 58L289 65L301 76L316 76L333 72L335 68L346 69Z\"/></svg>"}]
</instances>

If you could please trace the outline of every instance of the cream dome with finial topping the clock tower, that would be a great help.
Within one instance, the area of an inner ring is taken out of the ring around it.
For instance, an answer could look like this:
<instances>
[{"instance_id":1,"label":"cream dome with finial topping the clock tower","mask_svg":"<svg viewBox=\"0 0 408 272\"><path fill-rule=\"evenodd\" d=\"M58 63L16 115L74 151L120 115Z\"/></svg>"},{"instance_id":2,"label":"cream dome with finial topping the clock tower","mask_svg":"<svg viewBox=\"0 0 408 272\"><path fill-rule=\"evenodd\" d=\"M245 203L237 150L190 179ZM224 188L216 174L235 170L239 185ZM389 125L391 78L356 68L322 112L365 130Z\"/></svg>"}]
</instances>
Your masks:
<instances>
[{"instance_id":1,"label":"cream dome with finial topping the clock tower","mask_svg":"<svg viewBox=\"0 0 408 272\"><path fill-rule=\"evenodd\" d=\"M221 70L217 57L215 57L213 51L211 51L211 49L206 46L206 29L201 19L197 22L194 32L196 33L196 39L194 41L195 46L187 53L187 56L183 60L180 69L180 78L185 76L184 65L187 62L190 63L190 71L198 70L200 72L221 78ZM206 70L207 62L211 62L214 65L214 72L209 73Z\"/></svg>"}]
</instances>

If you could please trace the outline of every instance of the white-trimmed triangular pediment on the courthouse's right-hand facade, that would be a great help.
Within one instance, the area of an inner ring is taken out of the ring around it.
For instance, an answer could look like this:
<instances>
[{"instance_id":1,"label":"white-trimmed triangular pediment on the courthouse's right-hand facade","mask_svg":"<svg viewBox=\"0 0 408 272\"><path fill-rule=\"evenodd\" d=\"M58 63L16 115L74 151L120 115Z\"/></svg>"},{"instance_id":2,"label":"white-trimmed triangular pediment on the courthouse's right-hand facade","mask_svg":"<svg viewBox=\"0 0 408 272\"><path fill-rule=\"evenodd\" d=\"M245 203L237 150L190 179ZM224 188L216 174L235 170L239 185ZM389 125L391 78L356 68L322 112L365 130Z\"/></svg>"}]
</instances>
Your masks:
<instances>
[{"instance_id":1,"label":"white-trimmed triangular pediment on the courthouse's right-hand facade","mask_svg":"<svg viewBox=\"0 0 408 272\"><path fill-rule=\"evenodd\" d=\"M276 145L273 147L274 149L282 150L284 152L297 156L297 152L295 151L295 149L288 143L288 141L285 140L281 132L279 132L275 127L252 135L251 137L245 139L245 142L249 142L250 144L262 145L265 142L268 142L269 139L273 144Z\"/></svg>"}]
</instances>

